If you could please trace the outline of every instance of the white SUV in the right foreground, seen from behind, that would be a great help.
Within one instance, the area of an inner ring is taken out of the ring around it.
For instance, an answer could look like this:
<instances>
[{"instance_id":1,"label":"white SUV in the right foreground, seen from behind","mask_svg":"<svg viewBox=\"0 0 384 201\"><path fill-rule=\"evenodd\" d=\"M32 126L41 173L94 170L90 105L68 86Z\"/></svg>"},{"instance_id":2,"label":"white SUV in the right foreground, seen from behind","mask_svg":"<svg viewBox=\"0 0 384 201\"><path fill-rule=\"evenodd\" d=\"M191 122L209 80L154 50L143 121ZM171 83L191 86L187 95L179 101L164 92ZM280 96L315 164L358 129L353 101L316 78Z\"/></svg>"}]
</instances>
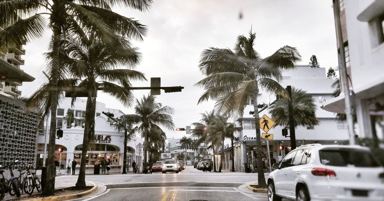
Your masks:
<instances>
[{"instance_id":1,"label":"white SUV in the right foreground, seen from behind","mask_svg":"<svg viewBox=\"0 0 384 201\"><path fill-rule=\"evenodd\" d=\"M311 144L273 164L268 200L383 201L384 168L368 148Z\"/></svg>"}]
</instances>

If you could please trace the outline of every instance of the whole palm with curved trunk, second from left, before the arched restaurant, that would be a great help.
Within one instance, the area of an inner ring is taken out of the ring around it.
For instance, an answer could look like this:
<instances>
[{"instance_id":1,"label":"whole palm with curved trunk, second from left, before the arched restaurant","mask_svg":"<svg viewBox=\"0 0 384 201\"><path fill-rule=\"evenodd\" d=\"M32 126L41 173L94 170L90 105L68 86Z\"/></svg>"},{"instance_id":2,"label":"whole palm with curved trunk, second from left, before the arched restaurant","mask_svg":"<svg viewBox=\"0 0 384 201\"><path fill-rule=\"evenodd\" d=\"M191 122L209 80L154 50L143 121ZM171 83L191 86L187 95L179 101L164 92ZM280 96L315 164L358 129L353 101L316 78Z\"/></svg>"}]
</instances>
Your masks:
<instances>
[{"instance_id":1,"label":"whole palm with curved trunk, second from left, before the arched restaurant","mask_svg":"<svg viewBox=\"0 0 384 201\"><path fill-rule=\"evenodd\" d=\"M83 39L83 43L63 41L65 43L64 49L68 51L68 56L62 58L63 63L68 66L71 75L78 78L79 81L78 87L72 91L72 101L84 91L88 95L83 148L76 183L76 186L81 188L85 187L85 163L88 144L94 137L97 90L113 96L123 105L130 107L134 102L133 93L129 90L130 81L146 80L144 74L139 71L119 68L120 66L135 68L141 60L141 54L137 52L137 48L132 48L126 39L121 37L118 39L113 45L106 45L93 37L87 40Z\"/></svg>"}]
</instances>

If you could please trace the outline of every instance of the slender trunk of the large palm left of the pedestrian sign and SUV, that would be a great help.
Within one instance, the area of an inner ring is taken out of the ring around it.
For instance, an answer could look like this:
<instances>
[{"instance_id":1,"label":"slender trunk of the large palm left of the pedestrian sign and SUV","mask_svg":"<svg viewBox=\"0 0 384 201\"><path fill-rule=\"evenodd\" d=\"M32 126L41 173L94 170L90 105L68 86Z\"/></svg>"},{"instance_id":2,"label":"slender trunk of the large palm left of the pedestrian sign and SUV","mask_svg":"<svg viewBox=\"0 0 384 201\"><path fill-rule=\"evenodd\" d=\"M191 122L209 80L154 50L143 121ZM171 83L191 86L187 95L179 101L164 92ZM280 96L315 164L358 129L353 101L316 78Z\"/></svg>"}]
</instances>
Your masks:
<instances>
[{"instance_id":1,"label":"slender trunk of the large palm left of the pedestrian sign and SUV","mask_svg":"<svg viewBox=\"0 0 384 201\"><path fill-rule=\"evenodd\" d=\"M257 77L255 75L255 77ZM257 80L255 80L255 92L253 93L253 110L255 110L255 127L256 127L256 155L257 155L257 181L258 187L266 188L263 161L262 161L262 142L260 138L260 116L257 108L257 94L258 94L258 85Z\"/></svg>"}]
</instances>

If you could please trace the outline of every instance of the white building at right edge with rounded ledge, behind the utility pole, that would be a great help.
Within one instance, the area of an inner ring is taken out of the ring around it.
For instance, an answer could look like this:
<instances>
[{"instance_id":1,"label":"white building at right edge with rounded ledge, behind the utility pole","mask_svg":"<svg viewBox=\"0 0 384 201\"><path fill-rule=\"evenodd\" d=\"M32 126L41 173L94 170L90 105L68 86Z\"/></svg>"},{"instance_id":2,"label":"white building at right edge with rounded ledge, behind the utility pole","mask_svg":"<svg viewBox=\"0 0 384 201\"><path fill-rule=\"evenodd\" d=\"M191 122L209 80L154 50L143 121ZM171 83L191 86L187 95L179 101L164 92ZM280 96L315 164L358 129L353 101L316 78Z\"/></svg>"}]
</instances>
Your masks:
<instances>
[{"instance_id":1,"label":"white building at right edge with rounded ledge, behind the utility pole","mask_svg":"<svg viewBox=\"0 0 384 201\"><path fill-rule=\"evenodd\" d=\"M383 139L384 136L384 2L382 0L339 0L343 42L350 88L354 92L359 138ZM336 18L336 16L335 16ZM348 33L348 35L347 35ZM347 55L347 54L346 54ZM324 109L345 113L344 93L327 100Z\"/></svg>"}]
</instances>

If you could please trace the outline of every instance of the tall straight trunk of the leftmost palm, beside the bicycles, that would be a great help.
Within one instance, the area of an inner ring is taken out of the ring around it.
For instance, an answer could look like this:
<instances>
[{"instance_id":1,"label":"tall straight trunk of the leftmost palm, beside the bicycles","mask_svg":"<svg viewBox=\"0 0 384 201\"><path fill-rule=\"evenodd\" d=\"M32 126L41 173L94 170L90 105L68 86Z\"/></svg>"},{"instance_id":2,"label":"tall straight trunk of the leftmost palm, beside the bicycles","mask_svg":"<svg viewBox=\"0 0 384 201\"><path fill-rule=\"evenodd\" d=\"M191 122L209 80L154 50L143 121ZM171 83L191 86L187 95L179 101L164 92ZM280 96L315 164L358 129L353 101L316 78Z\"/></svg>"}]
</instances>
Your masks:
<instances>
[{"instance_id":1,"label":"tall straight trunk of the leftmost palm, beside the bicycles","mask_svg":"<svg viewBox=\"0 0 384 201\"><path fill-rule=\"evenodd\" d=\"M59 69L59 43L60 43L60 28L53 27L53 46L52 46L52 69L51 69L51 122L50 134L47 145L47 172L45 188L43 188L43 196L51 196L55 191L55 145L56 145L56 110L58 103L58 69ZM46 123L48 125L48 122Z\"/></svg>"}]
</instances>

